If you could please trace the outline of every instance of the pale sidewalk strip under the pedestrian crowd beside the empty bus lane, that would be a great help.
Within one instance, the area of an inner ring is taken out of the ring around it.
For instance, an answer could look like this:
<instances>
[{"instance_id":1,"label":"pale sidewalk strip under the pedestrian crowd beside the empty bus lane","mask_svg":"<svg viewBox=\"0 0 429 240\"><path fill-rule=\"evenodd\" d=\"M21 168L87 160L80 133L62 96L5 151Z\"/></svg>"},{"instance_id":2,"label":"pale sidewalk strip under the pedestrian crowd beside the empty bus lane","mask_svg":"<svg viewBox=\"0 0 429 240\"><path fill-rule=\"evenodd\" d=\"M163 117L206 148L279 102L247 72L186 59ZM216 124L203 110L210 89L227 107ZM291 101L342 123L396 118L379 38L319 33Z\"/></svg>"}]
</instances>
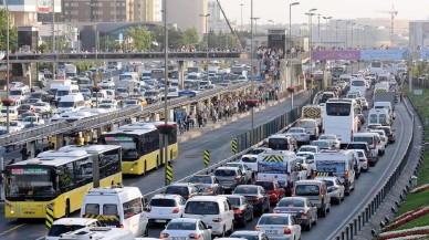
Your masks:
<instances>
[{"instance_id":1,"label":"pale sidewalk strip under the pedestrian crowd beside the empty bus lane","mask_svg":"<svg viewBox=\"0 0 429 240\"><path fill-rule=\"evenodd\" d=\"M301 94L301 93L299 93L299 94ZM289 98L289 97L286 97L286 98ZM266 107L275 106L279 103L282 103L282 102L286 101L286 98L281 98L279 101L271 101L268 104L262 104L262 105L260 105L260 107L255 107L254 108L254 113L263 111ZM230 123L236 122L236 121L238 121L240 118L250 116L250 114L251 114L250 111L245 112L245 113L234 114L232 117L229 117L227 121L224 118L222 118L220 121L217 121L216 124L213 124L213 122L211 119L209 119L205 127L198 127L198 125L196 124L193 126L193 128L189 128L188 132L185 132L182 135L178 136L178 143L184 143L184 142L187 142L189 139L199 137L199 136L201 136L205 133L208 133L208 132L221 128L221 127L223 127L227 124L230 124Z\"/></svg>"}]
</instances>

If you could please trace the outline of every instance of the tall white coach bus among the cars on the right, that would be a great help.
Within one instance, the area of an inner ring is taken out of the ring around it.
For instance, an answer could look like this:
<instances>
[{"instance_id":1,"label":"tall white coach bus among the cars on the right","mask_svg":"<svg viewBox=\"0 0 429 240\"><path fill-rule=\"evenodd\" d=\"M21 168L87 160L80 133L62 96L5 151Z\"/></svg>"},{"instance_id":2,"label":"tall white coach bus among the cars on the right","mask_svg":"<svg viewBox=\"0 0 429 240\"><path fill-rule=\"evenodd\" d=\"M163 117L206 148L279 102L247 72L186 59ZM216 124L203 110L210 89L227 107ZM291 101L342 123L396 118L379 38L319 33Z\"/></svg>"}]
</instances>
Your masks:
<instances>
[{"instance_id":1,"label":"tall white coach bus among the cars on the right","mask_svg":"<svg viewBox=\"0 0 429 240\"><path fill-rule=\"evenodd\" d=\"M323 111L323 133L337 135L342 146L352 142L358 131L358 108L355 100L328 100Z\"/></svg>"}]
</instances>

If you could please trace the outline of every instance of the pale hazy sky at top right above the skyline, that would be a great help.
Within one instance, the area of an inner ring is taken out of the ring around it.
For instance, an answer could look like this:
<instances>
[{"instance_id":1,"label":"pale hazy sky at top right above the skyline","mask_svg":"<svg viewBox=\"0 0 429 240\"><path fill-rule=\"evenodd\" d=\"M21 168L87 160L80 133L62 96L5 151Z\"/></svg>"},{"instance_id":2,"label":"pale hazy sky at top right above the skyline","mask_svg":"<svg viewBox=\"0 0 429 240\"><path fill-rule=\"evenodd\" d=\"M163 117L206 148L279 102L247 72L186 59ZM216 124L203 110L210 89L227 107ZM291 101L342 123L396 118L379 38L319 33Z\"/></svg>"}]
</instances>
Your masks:
<instances>
[{"instance_id":1,"label":"pale hazy sky at top right above the skyline","mask_svg":"<svg viewBox=\"0 0 429 240\"><path fill-rule=\"evenodd\" d=\"M310 9L317 9L315 13L321 14L321 22L323 15L334 19L390 18L389 13L377 11L391 11L393 4L398 19L428 20L429 17L429 0L253 0L253 15L261 18L258 24L269 23L269 20L289 23L289 4L292 2L300 2L292 6L292 23L308 22L304 13ZM243 24L250 23L251 0L220 0L220 3L227 17L237 20L238 24L241 24L240 4L243 3Z\"/></svg>"}]
</instances>

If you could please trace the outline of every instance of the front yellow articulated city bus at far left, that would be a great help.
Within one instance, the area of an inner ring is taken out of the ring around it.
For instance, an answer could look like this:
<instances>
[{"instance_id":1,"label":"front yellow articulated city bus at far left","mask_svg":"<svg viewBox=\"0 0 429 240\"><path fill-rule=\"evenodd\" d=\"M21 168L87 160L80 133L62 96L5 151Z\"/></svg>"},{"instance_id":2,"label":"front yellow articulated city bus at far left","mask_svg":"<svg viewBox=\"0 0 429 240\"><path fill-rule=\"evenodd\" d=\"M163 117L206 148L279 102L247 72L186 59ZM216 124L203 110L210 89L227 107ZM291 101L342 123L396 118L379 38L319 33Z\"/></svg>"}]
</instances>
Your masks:
<instances>
[{"instance_id":1,"label":"front yellow articulated city bus at far left","mask_svg":"<svg viewBox=\"0 0 429 240\"><path fill-rule=\"evenodd\" d=\"M81 209L83 197L93 188L93 157L98 157L100 187L122 184L121 147L101 146L86 150L49 150L36 158L9 165L4 169L4 217L67 217Z\"/></svg>"}]
</instances>

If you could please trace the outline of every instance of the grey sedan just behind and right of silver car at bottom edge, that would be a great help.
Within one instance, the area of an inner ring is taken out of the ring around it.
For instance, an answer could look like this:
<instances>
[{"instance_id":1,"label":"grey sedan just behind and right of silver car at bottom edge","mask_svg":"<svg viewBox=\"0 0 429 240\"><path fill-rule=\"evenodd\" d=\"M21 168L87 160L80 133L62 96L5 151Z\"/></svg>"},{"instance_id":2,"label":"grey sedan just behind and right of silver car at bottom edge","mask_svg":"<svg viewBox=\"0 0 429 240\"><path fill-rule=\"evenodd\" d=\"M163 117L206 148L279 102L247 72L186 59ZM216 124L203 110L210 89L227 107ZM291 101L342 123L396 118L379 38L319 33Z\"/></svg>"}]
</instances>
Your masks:
<instances>
[{"instance_id":1,"label":"grey sedan just behind and right of silver car at bottom edge","mask_svg":"<svg viewBox=\"0 0 429 240\"><path fill-rule=\"evenodd\" d=\"M274 213L291 213L296 223L311 230L317 225L317 207L305 197L285 197L279 201Z\"/></svg>"}]
</instances>

